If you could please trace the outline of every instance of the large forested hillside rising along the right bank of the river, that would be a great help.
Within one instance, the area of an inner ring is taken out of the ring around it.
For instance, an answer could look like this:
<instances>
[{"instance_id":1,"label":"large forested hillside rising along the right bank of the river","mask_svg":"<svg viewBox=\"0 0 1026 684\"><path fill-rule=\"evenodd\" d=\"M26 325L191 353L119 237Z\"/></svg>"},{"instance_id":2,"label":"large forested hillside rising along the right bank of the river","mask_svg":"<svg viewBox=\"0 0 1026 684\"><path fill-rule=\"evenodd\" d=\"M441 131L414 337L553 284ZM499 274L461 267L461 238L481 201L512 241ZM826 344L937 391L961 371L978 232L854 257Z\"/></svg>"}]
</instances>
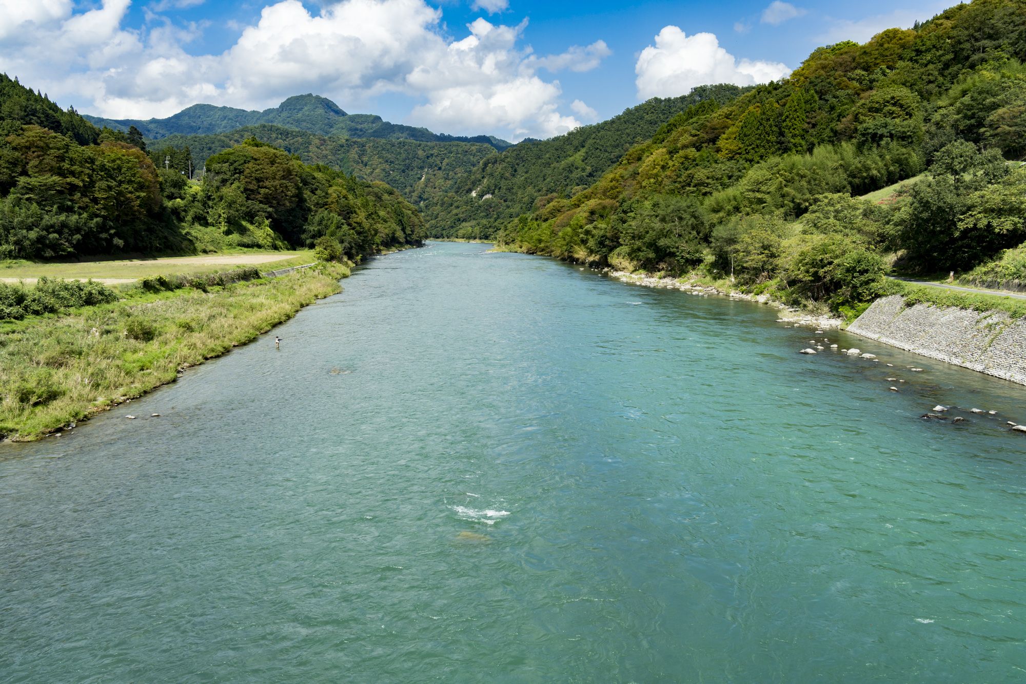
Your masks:
<instances>
[{"instance_id":1,"label":"large forested hillside rising along the right bank of the river","mask_svg":"<svg viewBox=\"0 0 1026 684\"><path fill-rule=\"evenodd\" d=\"M975 0L670 118L601 180L503 230L518 249L713 276L835 309L886 259L968 270L1026 239L1026 3ZM884 204L858 198L925 172Z\"/></svg>"}]
</instances>

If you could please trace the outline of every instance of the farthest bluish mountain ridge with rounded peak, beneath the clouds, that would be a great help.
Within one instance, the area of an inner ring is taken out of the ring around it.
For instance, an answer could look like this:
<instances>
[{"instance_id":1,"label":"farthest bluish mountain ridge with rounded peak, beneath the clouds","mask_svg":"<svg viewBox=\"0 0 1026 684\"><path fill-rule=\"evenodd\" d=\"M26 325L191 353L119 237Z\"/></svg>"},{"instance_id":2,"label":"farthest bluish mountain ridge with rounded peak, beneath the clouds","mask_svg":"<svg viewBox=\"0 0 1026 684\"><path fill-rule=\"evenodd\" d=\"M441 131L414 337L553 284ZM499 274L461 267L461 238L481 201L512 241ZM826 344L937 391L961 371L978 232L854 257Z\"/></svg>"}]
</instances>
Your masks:
<instances>
[{"instance_id":1,"label":"farthest bluish mountain ridge with rounded peak, beneath the clouds","mask_svg":"<svg viewBox=\"0 0 1026 684\"><path fill-rule=\"evenodd\" d=\"M173 135L223 134L259 124L272 124L297 128L320 136L340 138L370 138L374 140L412 140L432 143L479 143L503 150L510 143L492 136L464 138L433 134L418 128L389 123L373 114L347 114L327 98L314 94L293 96L278 107L263 112L246 111L232 107L193 105L166 119L104 119L86 116L97 126L127 131L135 126L150 140L160 140Z\"/></svg>"}]
</instances>

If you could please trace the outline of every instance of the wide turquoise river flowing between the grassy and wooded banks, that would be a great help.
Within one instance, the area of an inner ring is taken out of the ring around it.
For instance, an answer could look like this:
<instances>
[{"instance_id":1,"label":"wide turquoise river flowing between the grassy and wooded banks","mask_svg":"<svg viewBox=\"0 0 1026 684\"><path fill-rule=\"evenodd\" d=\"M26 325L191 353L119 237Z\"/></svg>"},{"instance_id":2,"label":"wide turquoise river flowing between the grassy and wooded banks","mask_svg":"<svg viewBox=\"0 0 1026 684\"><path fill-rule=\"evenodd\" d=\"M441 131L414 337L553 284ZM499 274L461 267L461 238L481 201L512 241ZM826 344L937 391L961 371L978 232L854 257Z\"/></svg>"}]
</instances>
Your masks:
<instances>
[{"instance_id":1,"label":"wide turquoise river flowing between the grassy and wooded banks","mask_svg":"<svg viewBox=\"0 0 1026 684\"><path fill-rule=\"evenodd\" d=\"M1026 387L486 250L0 445L0 680L1026 680Z\"/></svg>"}]
</instances>

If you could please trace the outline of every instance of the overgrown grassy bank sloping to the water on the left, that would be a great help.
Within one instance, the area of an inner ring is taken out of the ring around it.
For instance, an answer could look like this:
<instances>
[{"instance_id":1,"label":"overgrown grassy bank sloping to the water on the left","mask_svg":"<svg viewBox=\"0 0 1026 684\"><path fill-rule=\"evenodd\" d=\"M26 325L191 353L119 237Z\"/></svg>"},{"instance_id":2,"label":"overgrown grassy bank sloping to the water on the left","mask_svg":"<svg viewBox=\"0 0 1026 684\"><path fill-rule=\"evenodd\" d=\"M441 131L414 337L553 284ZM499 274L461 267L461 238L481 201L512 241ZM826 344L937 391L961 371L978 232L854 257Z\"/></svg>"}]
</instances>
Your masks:
<instances>
[{"instance_id":1,"label":"overgrown grassy bank sloping to the water on the left","mask_svg":"<svg viewBox=\"0 0 1026 684\"><path fill-rule=\"evenodd\" d=\"M280 278L170 293L0 325L0 436L33 440L162 384L341 291L324 264Z\"/></svg>"}]
</instances>

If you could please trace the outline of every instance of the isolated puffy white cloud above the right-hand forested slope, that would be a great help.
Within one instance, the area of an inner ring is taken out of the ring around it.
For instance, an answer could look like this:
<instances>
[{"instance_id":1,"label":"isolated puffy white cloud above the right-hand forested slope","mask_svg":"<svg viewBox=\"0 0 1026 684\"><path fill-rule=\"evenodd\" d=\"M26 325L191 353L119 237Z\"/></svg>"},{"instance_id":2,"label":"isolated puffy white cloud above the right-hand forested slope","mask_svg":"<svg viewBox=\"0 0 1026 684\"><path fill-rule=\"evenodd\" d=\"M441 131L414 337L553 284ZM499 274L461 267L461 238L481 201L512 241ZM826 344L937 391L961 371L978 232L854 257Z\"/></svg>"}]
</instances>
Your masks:
<instances>
[{"instance_id":1,"label":"isolated puffy white cloud above the right-hand forested slope","mask_svg":"<svg viewBox=\"0 0 1026 684\"><path fill-rule=\"evenodd\" d=\"M642 100L673 98L710 83L753 85L791 73L779 62L739 61L720 47L715 35L687 36L675 26L664 27L656 36L656 44L641 50L634 71Z\"/></svg>"}]
</instances>

